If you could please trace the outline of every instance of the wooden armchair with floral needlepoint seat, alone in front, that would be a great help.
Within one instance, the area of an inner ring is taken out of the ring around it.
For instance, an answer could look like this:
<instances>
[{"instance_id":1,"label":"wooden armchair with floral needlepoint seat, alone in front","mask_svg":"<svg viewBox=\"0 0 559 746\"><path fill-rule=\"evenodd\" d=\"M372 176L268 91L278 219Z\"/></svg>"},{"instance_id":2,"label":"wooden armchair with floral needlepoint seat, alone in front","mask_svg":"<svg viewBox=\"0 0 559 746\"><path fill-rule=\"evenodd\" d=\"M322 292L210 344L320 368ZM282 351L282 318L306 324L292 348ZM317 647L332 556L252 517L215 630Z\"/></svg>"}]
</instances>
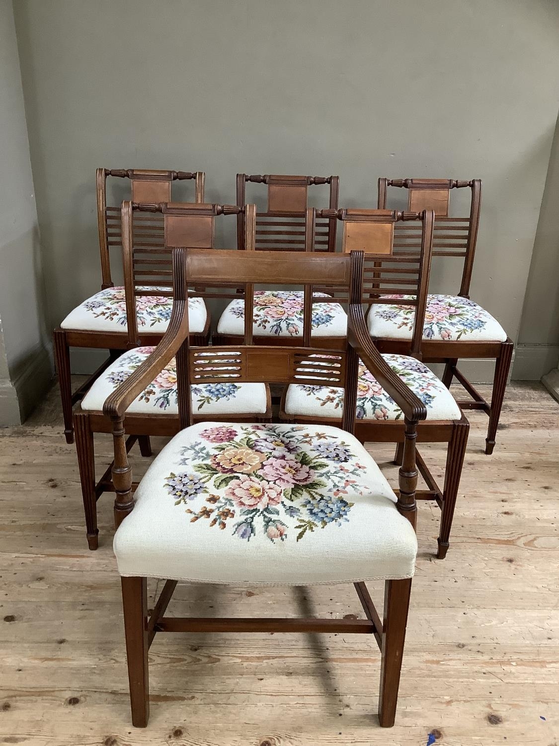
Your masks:
<instances>
[{"instance_id":1,"label":"wooden armchair with floral needlepoint seat, alone in front","mask_svg":"<svg viewBox=\"0 0 559 746\"><path fill-rule=\"evenodd\" d=\"M240 255L239 255L240 254ZM363 254L174 251L173 316L146 363L107 398L113 423L116 486L114 549L121 574L132 721L148 724L148 648L162 632L329 632L372 634L381 648L380 724L394 724L411 577L417 552L415 437L426 417L422 401L376 351L361 310ZM189 345L187 286L245 287L244 338L233 347ZM345 289L349 339L331 350L311 344L254 346L253 286L303 285L305 327L309 286ZM220 354L227 353L227 366ZM154 460L132 493L124 413L176 356L183 430ZM313 357L312 357L313 356ZM235 360L232 366L231 360ZM405 416L399 497L353 436L361 359ZM320 364L318 364L320 363ZM342 428L294 424L193 424L189 386L221 380L338 380L346 391ZM216 368L221 367L221 370ZM315 379L314 379L315 380ZM135 498L135 499L134 499ZM165 579L148 616L147 578ZM383 620L365 585L385 579ZM177 582L291 585L354 583L364 619L177 618L165 616Z\"/></svg>"}]
</instances>

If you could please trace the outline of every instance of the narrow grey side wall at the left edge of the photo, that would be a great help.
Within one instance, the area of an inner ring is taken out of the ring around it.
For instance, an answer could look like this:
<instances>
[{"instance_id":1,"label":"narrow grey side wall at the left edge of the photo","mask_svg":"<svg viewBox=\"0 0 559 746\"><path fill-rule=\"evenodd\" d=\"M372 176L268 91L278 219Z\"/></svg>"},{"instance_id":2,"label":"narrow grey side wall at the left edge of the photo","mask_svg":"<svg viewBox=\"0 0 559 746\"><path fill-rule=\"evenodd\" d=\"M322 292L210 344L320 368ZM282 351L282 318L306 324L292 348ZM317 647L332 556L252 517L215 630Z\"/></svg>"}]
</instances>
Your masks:
<instances>
[{"instance_id":1,"label":"narrow grey side wall at the left edge of the photo","mask_svg":"<svg viewBox=\"0 0 559 746\"><path fill-rule=\"evenodd\" d=\"M16 424L48 385L45 288L11 0L0 0L0 424Z\"/></svg>"}]
</instances>

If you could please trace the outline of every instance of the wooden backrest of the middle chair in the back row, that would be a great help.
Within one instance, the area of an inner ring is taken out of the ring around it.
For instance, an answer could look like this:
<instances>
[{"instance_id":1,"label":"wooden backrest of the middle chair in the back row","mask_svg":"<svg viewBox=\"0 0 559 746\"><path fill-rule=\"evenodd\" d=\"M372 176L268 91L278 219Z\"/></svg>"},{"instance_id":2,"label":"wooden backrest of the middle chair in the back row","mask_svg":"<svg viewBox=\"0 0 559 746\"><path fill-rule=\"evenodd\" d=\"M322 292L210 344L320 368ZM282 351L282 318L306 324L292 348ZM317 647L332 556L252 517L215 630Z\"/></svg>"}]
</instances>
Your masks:
<instances>
[{"instance_id":1,"label":"wooden backrest of the middle chair in the back row","mask_svg":"<svg viewBox=\"0 0 559 746\"><path fill-rule=\"evenodd\" d=\"M329 208L338 207L338 176L282 176L237 174L237 204L246 201L246 184L266 184L268 204L256 220L256 251L305 251L305 214L309 186L329 186ZM244 246L243 218L237 219L237 248ZM316 227L312 251L335 251L336 221L326 219Z\"/></svg>"}]
</instances>

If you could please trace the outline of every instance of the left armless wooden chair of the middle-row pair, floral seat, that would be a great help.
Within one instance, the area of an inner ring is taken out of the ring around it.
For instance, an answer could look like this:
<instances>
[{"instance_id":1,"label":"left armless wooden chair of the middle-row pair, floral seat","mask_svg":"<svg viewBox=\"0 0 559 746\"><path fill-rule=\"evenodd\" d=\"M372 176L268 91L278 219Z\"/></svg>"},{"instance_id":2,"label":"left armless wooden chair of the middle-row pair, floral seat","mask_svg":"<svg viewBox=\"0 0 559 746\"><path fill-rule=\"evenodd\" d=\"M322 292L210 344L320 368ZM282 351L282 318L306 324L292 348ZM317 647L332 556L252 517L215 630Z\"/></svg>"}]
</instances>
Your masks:
<instances>
[{"instance_id":1,"label":"left armless wooden chair of the middle-row pair, floral seat","mask_svg":"<svg viewBox=\"0 0 559 746\"><path fill-rule=\"evenodd\" d=\"M220 204L162 203L142 204L124 201L121 207L122 251L124 257L124 287L127 298L128 345L117 360L102 372L74 410L74 430L78 466L86 517L86 536L89 549L98 548L97 501L105 491L113 491L111 467L99 480L95 477L95 433L110 433L110 421L103 414L107 396L127 380L133 372L151 359L154 346L142 345L136 324L136 308L150 283L158 283L165 293L165 301L172 301L171 249L174 246L198 246L204 250L214 248L215 219L218 216L236 215L242 210L247 231L247 250L253 250L256 210L254 205L236 207ZM162 217L164 247L139 247L135 241L133 224L138 215ZM162 286L166 283L166 286ZM193 295L192 293L190 295ZM195 301L202 303L203 292ZM215 296L215 292L212 294ZM189 318L196 306L189 298ZM195 319L196 321L196 319ZM191 335L192 339L192 335ZM202 354L202 353L200 353ZM202 354L203 355L203 354ZM227 356L222 356L227 363ZM149 436L174 436L180 430L177 367L174 359L157 371L148 385L130 403L124 418L127 449L139 440L142 455L151 455ZM229 421L266 421L271 418L270 390L265 383L237 383L223 380L198 383L191 387L193 419L226 419Z\"/></svg>"}]
</instances>

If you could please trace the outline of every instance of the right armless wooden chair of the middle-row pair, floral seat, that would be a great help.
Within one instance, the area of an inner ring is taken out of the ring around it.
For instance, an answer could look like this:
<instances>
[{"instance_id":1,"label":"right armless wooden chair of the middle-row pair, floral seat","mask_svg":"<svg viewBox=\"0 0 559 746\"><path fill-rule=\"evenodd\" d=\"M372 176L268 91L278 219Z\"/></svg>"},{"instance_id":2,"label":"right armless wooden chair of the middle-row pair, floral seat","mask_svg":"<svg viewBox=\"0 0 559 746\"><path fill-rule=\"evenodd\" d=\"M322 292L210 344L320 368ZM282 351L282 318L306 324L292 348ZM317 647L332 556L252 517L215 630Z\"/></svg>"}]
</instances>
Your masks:
<instances>
[{"instance_id":1,"label":"right armless wooden chair of the middle-row pair, floral seat","mask_svg":"<svg viewBox=\"0 0 559 746\"><path fill-rule=\"evenodd\" d=\"M307 222L315 225L315 210L309 210ZM331 214L323 210L318 218ZM438 486L432 471L417 451L417 468L428 489L416 490L416 498L435 501L441 511L437 557L443 559L449 548L458 487L470 424L461 413L455 398L421 362L422 330L431 267L433 210L420 213L391 210L340 209L336 217L343 224L343 251L364 251L364 280L361 302L369 309L383 307L390 301L385 295L403 292L406 310L414 314L414 328L405 354L382 354L385 362L426 406L427 416L417 428L417 442L446 443L444 483ZM409 254L394 248L397 225L410 225L420 231L419 251ZM309 248L312 236L309 236ZM339 293L335 294L339 297ZM335 351L331 354L335 359ZM342 421L344 388L339 383L291 383L283 392L279 407L282 421L301 424L336 424ZM395 463L402 463L405 418L401 408L359 360L355 434L359 442L397 443Z\"/></svg>"}]
</instances>

